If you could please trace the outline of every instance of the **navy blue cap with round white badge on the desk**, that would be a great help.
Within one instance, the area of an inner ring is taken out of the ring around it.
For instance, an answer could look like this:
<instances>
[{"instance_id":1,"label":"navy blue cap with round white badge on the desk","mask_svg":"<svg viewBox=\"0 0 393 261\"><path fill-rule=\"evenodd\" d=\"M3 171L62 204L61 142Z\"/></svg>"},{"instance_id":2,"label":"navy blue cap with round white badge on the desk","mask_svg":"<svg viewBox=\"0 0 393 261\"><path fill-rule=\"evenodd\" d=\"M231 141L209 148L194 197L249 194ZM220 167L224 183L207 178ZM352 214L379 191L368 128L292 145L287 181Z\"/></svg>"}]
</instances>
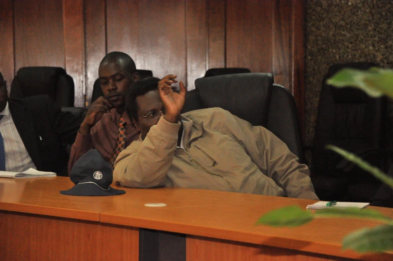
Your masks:
<instances>
[{"instance_id":1,"label":"navy blue cap with round white badge on the desk","mask_svg":"<svg viewBox=\"0 0 393 261\"><path fill-rule=\"evenodd\" d=\"M113 181L112 168L96 150L86 152L75 162L70 173L75 186L60 191L71 196L112 196L124 194L124 190L110 187Z\"/></svg>"}]
</instances>

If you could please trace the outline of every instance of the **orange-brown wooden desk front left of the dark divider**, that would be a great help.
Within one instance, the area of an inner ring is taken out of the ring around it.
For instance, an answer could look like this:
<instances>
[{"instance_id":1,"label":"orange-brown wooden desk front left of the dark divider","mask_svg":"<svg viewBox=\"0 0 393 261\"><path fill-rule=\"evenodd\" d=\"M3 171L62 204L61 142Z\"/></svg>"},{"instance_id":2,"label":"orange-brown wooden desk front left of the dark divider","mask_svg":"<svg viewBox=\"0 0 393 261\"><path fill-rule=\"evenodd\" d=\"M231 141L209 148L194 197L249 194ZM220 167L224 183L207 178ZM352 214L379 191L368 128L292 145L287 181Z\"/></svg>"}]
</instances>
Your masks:
<instances>
[{"instance_id":1,"label":"orange-brown wooden desk front left of the dark divider","mask_svg":"<svg viewBox=\"0 0 393 261\"><path fill-rule=\"evenodd\" d=\"M137 228L0 211L0 260L138 260Z\"/></svg>"}]
</instances>

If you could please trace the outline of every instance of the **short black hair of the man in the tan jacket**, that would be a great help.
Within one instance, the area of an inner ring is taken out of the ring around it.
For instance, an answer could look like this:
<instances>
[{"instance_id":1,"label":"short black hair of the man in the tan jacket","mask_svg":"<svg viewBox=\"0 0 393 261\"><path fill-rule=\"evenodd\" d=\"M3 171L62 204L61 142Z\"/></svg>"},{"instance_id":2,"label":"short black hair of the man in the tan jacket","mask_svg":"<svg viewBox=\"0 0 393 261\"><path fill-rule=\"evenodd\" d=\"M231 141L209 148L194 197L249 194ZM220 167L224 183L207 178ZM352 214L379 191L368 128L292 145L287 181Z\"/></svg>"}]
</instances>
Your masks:
<instances>
[{"instance_id":1,"label":"short black hair of the man in the tan jacket","mask_svg":"<svg viewBox=\"0 0 393 261\"><path fill-rule=\"evenodd\" d=\"M150 91L157 90L158 82L160 79L156 77L149 77L143 80L139 80L132 84L128 90L126 105L128 116L138 122L138 105L136 104L136 97L145 95Z\"/></svg>"}]
</instances>

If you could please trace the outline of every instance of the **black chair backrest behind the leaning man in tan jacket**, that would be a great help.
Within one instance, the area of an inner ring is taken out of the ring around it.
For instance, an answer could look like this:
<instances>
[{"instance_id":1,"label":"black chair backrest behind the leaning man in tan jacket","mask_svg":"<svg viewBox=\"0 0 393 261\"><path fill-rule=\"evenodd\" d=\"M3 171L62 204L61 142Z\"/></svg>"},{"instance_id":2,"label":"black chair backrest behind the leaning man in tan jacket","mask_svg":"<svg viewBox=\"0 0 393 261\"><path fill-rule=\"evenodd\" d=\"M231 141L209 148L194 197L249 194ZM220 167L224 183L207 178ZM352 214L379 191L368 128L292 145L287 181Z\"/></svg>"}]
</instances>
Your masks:
<instances>
[{"instance_id":1,"label":"black chair backrest behind the leaning man in tan jacket","mask_svg":"<svg viewBox=\"0 0 393 261\"><path fill-rule=\"evenodd\" d=\"M272 74L196 79L195 90L187 92L182 112L211 107L228 110L254 126L264 126L304 162L295 101L284 87L274 84Z\"/></svg>"}]
</instances>

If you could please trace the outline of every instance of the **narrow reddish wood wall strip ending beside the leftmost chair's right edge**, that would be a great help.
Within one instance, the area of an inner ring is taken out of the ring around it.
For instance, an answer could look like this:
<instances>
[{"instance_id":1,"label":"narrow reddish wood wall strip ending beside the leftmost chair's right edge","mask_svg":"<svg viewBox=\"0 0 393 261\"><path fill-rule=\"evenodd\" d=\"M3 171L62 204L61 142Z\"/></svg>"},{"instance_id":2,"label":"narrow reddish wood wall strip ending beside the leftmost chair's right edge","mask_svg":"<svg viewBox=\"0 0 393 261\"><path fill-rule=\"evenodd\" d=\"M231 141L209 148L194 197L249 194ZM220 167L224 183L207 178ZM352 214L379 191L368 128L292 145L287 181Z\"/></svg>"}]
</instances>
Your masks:
<instances>
[{"instance_id":1,"label":"narrow reddish wood wall strip ending beside the leftmost chair's right edge","mask_svg":"<svg viewBox=\"0 0 393 261\"><path fill-rule=\"evenodd\" d=\"M83 0L63 0L65 69L74 79L75 107L85 106L85 30Z\"/></svg>"}]
</instances>

